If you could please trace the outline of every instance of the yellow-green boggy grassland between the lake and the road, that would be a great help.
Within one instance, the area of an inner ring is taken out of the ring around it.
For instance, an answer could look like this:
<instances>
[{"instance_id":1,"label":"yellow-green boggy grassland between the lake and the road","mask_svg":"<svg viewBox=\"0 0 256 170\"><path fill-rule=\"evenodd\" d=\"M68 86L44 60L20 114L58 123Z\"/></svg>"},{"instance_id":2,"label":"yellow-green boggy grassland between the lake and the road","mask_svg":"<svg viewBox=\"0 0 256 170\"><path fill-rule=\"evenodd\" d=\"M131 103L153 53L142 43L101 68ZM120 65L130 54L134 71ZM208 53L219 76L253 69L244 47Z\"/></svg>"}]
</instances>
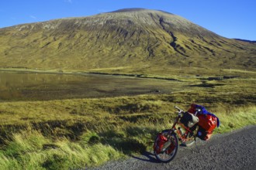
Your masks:
<instances>
[{"instance_id":1,"label":"yellow-green boggy grassland between the lake and the road","mask_svg":"<svg viewBox=\"0 0 256 170\"><path fill-rule=\"evenodd\" d=\"M2 102L0 168L86 168L151 151L155 134L171 127L175 105L204 105L220 118L215 133L256 124L253 76L180 80L186 87L174 93Z\"/></svg>"}]
</instances>

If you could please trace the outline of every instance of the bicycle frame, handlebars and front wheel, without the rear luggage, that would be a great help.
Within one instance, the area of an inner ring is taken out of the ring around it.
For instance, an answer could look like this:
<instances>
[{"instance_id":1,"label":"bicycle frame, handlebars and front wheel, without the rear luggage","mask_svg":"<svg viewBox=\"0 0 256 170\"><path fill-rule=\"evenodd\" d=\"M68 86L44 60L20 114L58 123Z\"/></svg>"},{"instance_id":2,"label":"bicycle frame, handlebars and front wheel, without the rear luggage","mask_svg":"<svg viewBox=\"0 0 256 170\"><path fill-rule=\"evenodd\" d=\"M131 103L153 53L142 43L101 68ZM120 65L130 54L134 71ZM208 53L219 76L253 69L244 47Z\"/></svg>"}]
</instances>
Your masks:
<instances>
[{"instance_id":1,"label":"bicycle frame, handlebars and front wheel, without the rear luggage","mask_svg":"<svg viewBox=\"0 0 256 170\"><path fill-rule=\"evenodd\" d=\"M185 111L176 106L175 108L178 110L178 117L176 117L175 123L171 129L161 131L161 133L157 134L157 138L154 141L154 155L160 162L171 162L175 158L179 148L178 140L182 141L182 145L188 147L193 145L199 131L199 126L196 124L198 121L191 124L191 128L182 124L181 118L185 114ZM196 112L199 111L196 110ZM184 133L182 129L185 130Z\"/></svg>"}]
</instances>

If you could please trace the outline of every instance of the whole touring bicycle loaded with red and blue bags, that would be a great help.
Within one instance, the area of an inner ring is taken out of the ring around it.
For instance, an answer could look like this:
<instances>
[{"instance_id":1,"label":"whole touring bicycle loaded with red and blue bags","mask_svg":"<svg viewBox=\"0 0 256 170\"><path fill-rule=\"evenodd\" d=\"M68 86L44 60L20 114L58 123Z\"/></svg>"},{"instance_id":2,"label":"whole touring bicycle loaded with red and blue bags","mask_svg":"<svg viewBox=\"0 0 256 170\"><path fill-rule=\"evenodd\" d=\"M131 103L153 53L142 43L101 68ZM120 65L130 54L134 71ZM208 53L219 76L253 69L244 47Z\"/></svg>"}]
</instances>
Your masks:
<instances>
[{"instance_id":1,"label":"whole touring bicycle loaded with red and blue bags","mask_svg":"<svg viewBox=\"0 0 256 170\"><path fill-rule=\"evenodd\" d=\"M178 141L182 145L191 146L195 138L209 140L213 130L220 126L219 118L209 113L205 107L192 104L188 111L179 107L178 116L171 129L161 131L154 141L154 155L160 162L170 162L178 152Z\"/></svg>"}]
</instances>

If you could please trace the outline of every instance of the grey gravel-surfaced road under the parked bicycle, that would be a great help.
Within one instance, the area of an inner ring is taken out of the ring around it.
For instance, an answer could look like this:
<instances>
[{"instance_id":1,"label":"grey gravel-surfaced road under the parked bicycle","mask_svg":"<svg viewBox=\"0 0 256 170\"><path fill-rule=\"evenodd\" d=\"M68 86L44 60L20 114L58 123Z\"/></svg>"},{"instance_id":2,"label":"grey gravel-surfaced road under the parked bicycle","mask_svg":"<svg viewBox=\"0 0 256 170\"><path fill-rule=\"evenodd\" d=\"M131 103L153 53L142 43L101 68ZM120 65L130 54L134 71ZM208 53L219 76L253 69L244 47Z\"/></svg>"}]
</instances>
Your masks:
<instances>
[{"instance_id":1,"label":"grey gravel-surfaced road under the parked bicycle","mask_svg":"<svg viewBox=\"0 0 256 170\"><path fill-rule=\"evenodd\" d=\"M150 152L126 161L109 162L96 169L256 169L256 126L229 134L216 134L209 141L196 141L192 147L180 147L175 160L156 161Z\"/></svg>"}]
</instances>

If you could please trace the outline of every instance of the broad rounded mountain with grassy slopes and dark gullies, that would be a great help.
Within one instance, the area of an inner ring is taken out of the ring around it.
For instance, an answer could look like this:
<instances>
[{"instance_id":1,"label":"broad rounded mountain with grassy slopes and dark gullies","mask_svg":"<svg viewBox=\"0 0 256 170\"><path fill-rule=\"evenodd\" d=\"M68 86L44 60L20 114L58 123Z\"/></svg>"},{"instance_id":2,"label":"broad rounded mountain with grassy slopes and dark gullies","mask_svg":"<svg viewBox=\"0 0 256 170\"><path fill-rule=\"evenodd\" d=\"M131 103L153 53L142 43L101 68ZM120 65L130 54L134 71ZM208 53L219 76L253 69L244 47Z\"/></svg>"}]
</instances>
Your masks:
<instances>
[{"instance_id":1,"label":"broad rounded mountain with grassy slopes and dark gullies","mask_svg":"<svg viewBox=\"0 0 256 170\"><path fill-rule=\"evenodd\" d=\"M256 44L143 8L0 29L0 67L56 70L256 68Z\"/></svg>"}]
</instances>

